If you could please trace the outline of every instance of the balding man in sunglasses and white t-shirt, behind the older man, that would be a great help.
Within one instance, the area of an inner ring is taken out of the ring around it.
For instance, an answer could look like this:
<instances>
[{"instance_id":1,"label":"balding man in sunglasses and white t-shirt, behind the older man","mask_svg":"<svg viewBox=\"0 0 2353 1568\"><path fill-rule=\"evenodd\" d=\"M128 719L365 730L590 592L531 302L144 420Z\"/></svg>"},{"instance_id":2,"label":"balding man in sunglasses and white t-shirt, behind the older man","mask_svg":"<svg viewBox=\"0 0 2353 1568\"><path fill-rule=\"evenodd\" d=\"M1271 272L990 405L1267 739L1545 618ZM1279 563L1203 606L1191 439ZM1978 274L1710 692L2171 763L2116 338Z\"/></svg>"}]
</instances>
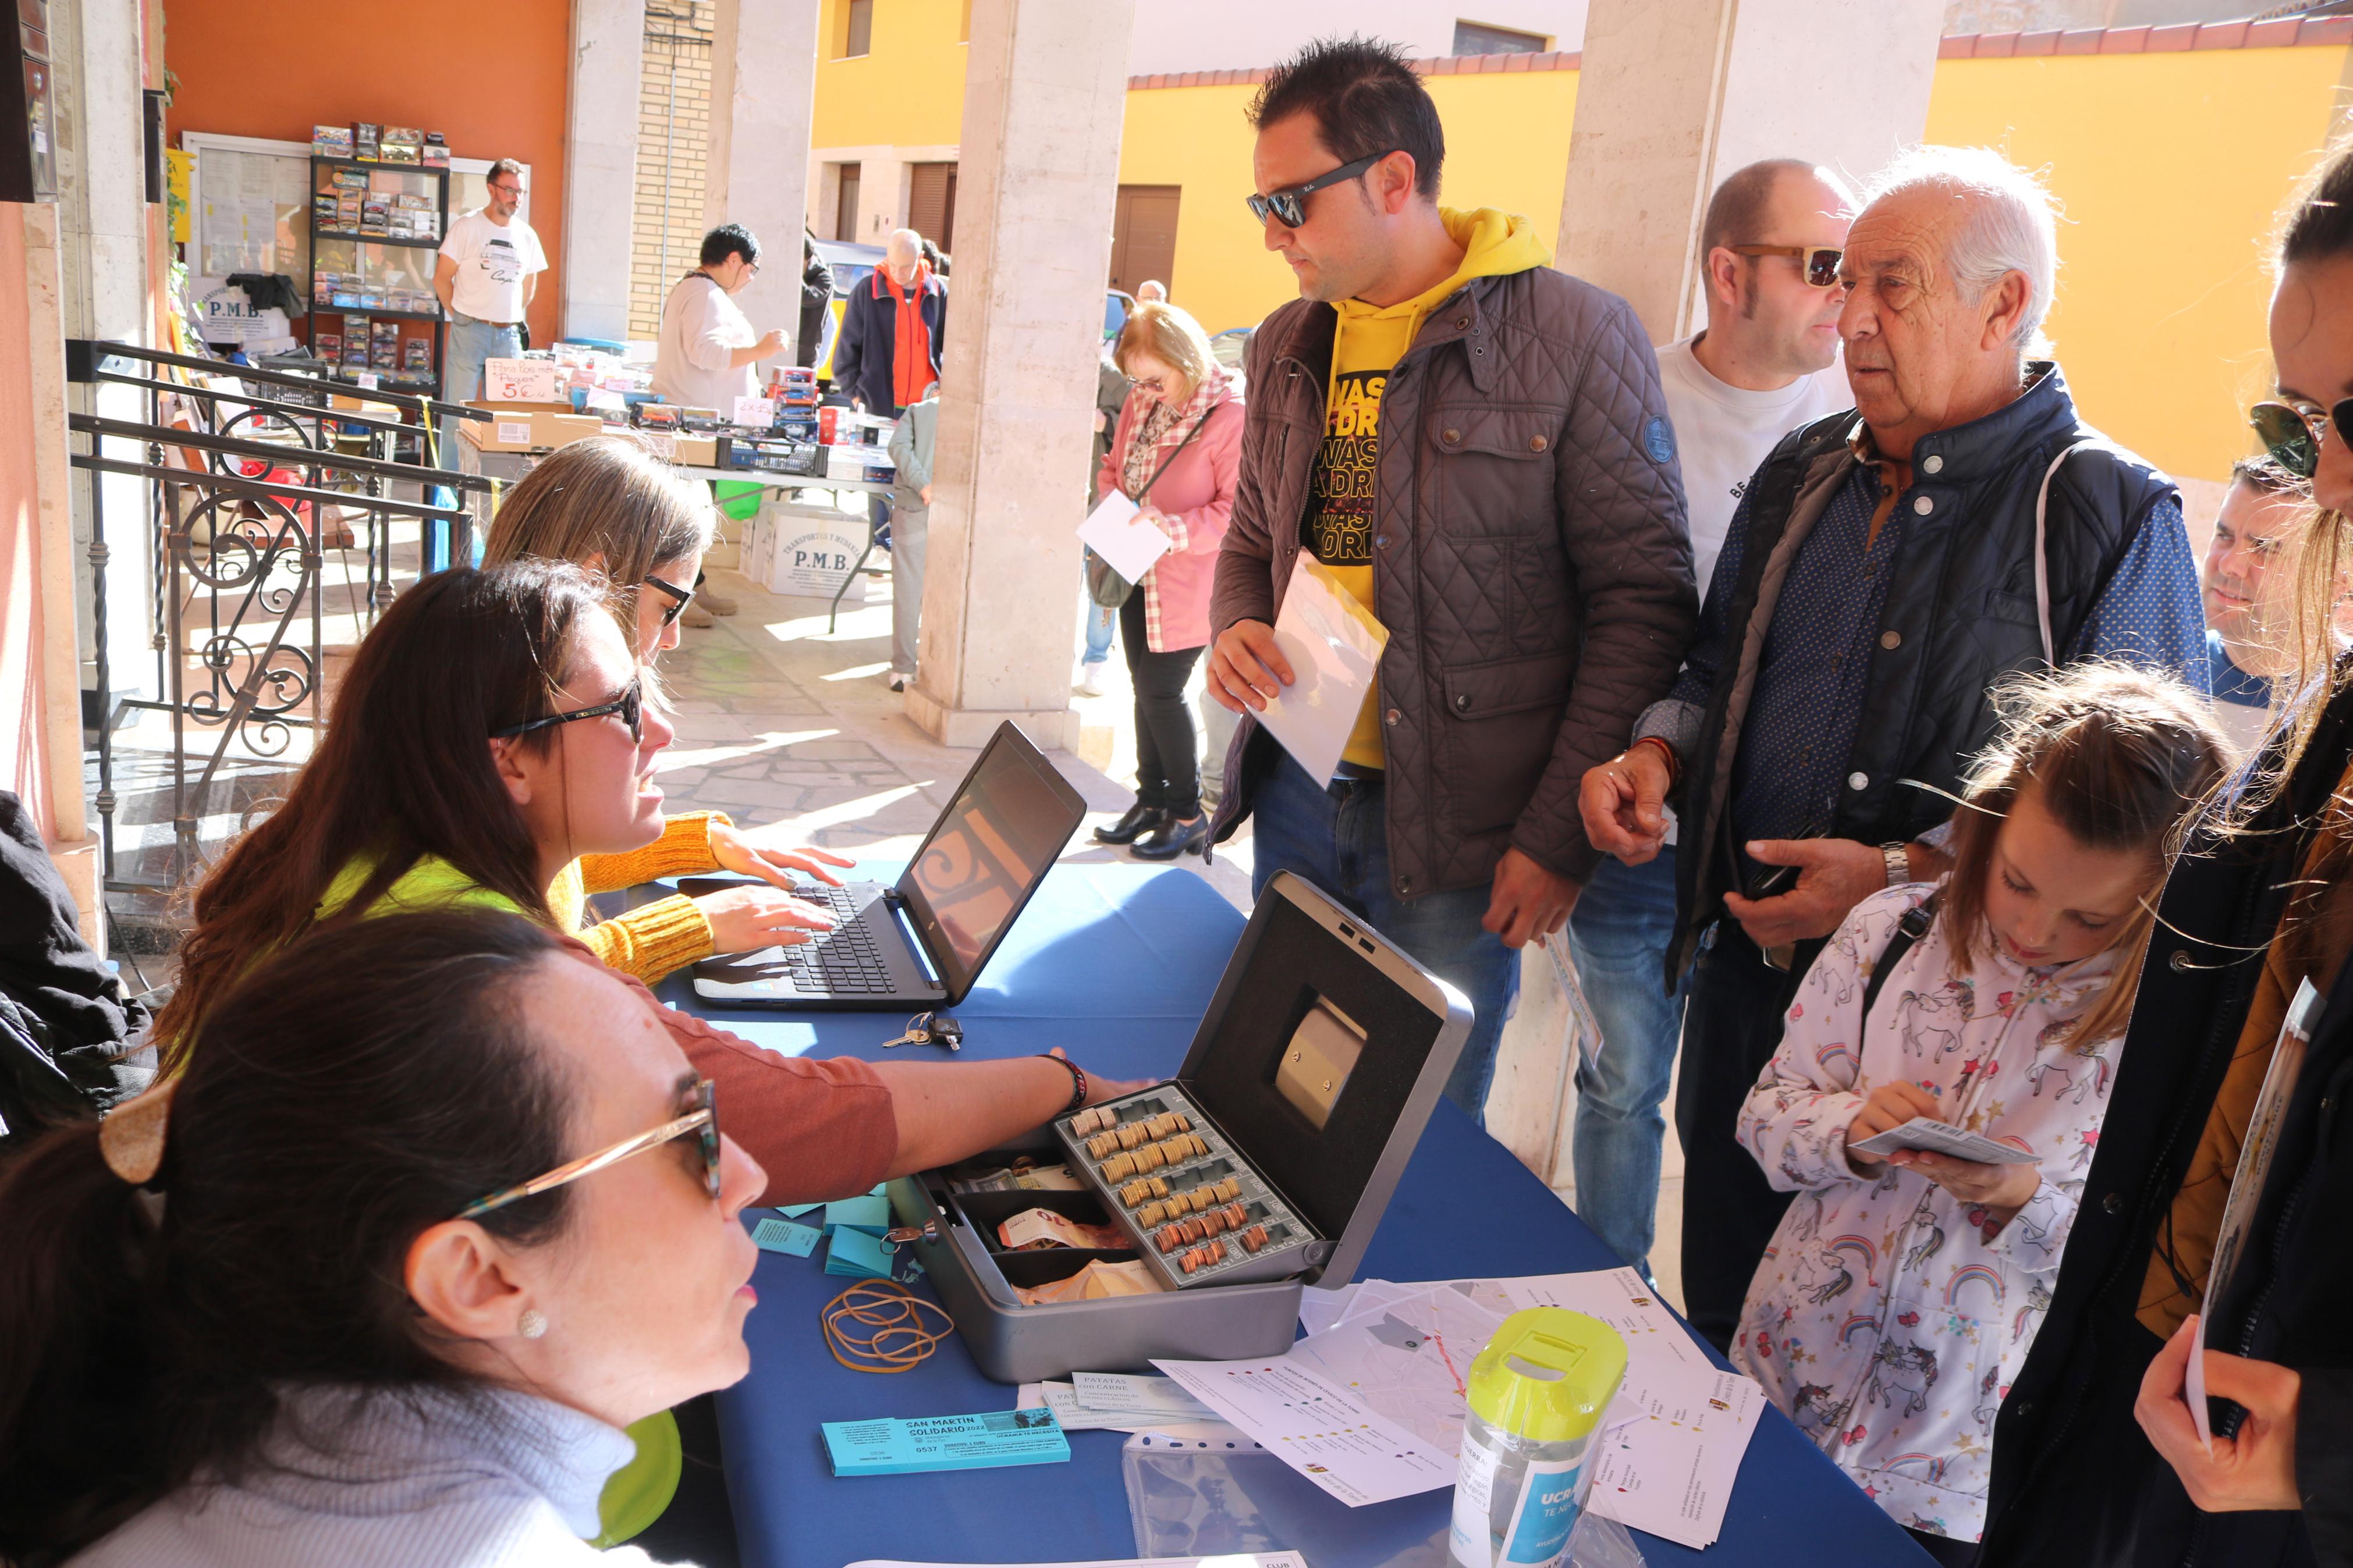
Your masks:
<instances>
[{"instance_id":1,"label":"balding man in sunglasses and white t-shirt, behind the older man","mask_svg":"<svg viewBox=\"0 0 2353 1568\"><path fill-rule=\"evenodd\" d=\"M1741 491L1774 442L1854 407L1838 367L1845 292L1833 287L1852 216L1854 193L1793 158L1748 165L1708 200L1708 327L1659 350L1701 595ZM1647 865L1605 858L1569 914L1569 954L1602 1032L1600 1051L1577 1067L1577 1213L1645 1274L1666 1140L1661 1105L1682 1037L1682 992L1666 992L1673 931L1673 830Z\"/></svg>"}]
</instances>

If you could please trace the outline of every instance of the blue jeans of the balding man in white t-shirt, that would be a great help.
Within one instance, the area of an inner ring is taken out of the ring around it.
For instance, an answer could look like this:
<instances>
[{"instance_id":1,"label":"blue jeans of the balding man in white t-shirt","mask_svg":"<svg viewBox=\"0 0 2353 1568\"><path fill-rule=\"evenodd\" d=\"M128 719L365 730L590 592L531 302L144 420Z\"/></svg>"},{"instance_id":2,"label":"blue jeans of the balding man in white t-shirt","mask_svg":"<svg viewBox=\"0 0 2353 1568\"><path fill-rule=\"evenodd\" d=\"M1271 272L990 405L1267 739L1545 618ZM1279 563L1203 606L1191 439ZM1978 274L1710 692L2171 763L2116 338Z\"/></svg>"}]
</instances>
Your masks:
<instances>
[{"instance_id":1,"label":"blue jeans of the balding man in white t-shirt","mask_svg":"<svg viewBox=\"0 0 2353 1568\"><path fill-rule=\"evenodd\" d=\"M1569 957L1602 1030L1577 1063L1577 1215L1642 1274L1659 1232L1666 1084L1687 990L1666 992L1673 936L1673 844L1647 865L1602 860L1569 914Z\"/></svg>"}]
</instances>

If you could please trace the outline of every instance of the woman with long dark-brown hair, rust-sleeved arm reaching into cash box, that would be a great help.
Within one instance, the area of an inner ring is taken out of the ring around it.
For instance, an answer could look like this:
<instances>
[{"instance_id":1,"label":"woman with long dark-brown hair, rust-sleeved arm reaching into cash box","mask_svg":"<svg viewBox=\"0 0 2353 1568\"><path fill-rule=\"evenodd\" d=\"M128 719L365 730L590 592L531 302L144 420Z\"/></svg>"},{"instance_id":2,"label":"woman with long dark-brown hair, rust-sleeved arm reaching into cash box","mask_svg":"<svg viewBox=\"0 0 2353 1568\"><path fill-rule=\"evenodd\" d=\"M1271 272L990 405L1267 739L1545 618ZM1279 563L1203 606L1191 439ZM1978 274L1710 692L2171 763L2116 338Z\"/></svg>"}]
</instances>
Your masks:
<instances>
[{"instance_id":1,"label":"woman with long dark-brown hair, rust-sleeved arm reaching into cash box","mask_svg":"<svg viewBox=\"0 0 2353 1568\"><path fill-rule=\"evenodd\" d=\"M569 938L579 905L560 910L551 893L572 863L664 835L652 769L671 726L647 682L602 585L576 567L445 571L400 595L287 802L195 896L179 992L158 1018L167 1065L184 1065L242 973L318 926L496 907ZM769 1175L762 1204L866 1192L1132 1088L1059 1056L788 1058L626 985L734 1107L729 1131Z\"/></svg>"}]
</instances>

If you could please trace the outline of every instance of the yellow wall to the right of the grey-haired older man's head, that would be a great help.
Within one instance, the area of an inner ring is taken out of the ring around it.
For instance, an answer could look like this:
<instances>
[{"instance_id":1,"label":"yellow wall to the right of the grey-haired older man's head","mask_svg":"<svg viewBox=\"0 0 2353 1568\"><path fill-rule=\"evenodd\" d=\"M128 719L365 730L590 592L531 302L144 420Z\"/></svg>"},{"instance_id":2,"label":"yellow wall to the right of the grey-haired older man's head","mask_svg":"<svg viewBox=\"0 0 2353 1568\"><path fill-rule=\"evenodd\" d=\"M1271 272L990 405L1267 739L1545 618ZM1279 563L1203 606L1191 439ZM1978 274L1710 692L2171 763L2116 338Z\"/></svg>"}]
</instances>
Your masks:
<instances>
[{"instance_id":1,"label":"yellow wall to the right of the grey-haired older man's head","mask_svg":"<svg viewBox=\"0 0 2353 1568\"><path fill-rule=\"evenodd\" d=\"M2219 480L2252 447L2268 235L2344 71L2344 49L1937 66L1927 139L2000 148L2061 202L2047 331L2078 407L2174 475Z\"/></svg>"}]
</instances>

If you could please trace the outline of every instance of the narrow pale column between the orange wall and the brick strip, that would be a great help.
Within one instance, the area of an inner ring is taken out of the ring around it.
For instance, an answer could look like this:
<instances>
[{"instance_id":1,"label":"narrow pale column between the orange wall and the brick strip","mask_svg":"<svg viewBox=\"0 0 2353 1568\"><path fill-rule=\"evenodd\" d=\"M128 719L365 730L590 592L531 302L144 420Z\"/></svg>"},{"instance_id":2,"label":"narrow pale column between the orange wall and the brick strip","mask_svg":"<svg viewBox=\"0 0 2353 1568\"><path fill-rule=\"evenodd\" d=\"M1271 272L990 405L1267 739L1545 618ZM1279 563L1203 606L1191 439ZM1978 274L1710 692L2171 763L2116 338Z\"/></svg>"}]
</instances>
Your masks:
<instances>
[{"instance_id":1,"label":"narrow pale column between the orange wall and the brick strip","mask_svg":"<svg viewBox=\"0 0 2353 1568\"><path fill-rule=\"evenodd\" d=\"M628 214L638 207L645 0L572 0L565 94L562 334L628 339Z\"/></svg>"}]
</instances>

